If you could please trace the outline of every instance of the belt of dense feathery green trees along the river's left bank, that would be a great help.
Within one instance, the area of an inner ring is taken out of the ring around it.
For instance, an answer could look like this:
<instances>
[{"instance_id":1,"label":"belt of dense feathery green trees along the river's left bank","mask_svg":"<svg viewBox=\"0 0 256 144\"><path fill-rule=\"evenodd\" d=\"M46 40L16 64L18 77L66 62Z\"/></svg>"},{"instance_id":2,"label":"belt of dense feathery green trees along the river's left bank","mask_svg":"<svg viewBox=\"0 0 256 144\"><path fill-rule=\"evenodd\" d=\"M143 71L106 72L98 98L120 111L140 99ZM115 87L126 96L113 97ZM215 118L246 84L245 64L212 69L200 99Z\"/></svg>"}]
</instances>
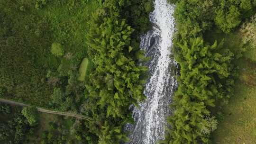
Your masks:
<instances>
[{"instance_id":1,"label":"belt of dense feathery green trees along the river's left bank","mask_svg":"<svg viewBox=\"0 0 256 144\"><path fill-rule=\"evenodd\" d=\"M99 144L119 144L128 141L122 127L133 121L129 106L145 98L147 68L143 63L148 58L139 50L138 33L150 26L147 14L153 9L152 3L144 0L106 0L101 4L86 36L93 69L86 83L83 111L101 125L86 126L99 137Z\"/></svg>"}]
</instances>

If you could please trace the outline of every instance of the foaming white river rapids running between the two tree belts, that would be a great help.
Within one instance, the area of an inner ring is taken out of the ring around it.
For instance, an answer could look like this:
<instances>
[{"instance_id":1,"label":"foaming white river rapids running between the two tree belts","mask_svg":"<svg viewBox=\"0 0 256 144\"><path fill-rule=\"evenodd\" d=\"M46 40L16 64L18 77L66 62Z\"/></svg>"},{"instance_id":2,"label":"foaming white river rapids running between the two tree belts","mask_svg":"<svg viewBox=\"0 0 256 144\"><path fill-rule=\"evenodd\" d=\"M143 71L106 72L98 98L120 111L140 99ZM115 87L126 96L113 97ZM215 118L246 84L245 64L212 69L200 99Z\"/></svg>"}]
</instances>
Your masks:
<instances>
[{"instance_id":1,"label":"foaming white river rapids running between the two tree belts","mask_svg":"<svg viewBox=\"0 0 256 144\"><path fill-rule=\"evenodd\" d=\"M134 125L129 144L156 144L165 136L166 117L170 115L169 105L177 82L172 69L177 63L171 57L172 37L174 34L174 6L166 0L155 0L155 10L149 18L153 29L141 36L141 49L151 60L150 79L144 91L147 99L140 108L133 107Z\"/></svg>"}]
</instances>

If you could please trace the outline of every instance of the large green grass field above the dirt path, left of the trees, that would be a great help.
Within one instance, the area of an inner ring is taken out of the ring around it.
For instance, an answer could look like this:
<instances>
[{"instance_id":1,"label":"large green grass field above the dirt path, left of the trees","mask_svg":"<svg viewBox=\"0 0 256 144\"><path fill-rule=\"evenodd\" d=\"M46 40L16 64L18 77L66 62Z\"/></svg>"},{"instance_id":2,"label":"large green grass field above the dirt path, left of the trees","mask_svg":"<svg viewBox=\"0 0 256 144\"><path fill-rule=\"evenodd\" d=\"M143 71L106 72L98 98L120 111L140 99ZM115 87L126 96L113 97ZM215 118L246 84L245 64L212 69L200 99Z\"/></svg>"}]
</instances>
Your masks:
<instances>
[{"instance_id":1,"label":"large green grass field above the dirt path, left of the trees","mask_svg":"<svg viewBox=\"0 0 256 144\"><path fill-rule=\"evenodd\" d=\"M87 57L91 13L99 6L97 0L86 1L52 0L36 9L35 0L0 0L2 97L47 107L54 88L46 79L48 70L63 87L69 71L78 73ZM51 54L53 43L63 46L62 57Z\"/></svg>"}]
</instances>

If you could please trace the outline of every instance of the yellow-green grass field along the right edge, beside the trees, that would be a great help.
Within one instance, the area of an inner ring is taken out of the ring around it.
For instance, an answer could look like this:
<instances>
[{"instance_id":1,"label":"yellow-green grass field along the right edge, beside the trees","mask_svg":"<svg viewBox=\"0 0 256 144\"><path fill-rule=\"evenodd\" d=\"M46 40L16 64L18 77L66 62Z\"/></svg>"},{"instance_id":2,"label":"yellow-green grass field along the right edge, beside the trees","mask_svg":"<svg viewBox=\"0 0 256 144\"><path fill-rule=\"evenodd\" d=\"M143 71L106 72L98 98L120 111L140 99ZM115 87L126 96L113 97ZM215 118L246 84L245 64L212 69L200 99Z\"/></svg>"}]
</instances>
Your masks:
<instances>
[{"instance_id":1,"label":"yellow-green grass field along the right edge, beside the trees","mask_svg":"<svg viewBox=\"0 0 256 144\"><path fill-rule=\"evenodd\" d=\"M216 38L225 38L225 47L235 55L242 53L241 34L237 30L225 35L215 30L208 33L210 43ZM227 105L217 104L222 113L217 130L212 134L213 144L256 144L256 49L246 49L239 59L234 60L238 67L238 80L235 81L234 95Z\"/></svg>"}]
</instances>

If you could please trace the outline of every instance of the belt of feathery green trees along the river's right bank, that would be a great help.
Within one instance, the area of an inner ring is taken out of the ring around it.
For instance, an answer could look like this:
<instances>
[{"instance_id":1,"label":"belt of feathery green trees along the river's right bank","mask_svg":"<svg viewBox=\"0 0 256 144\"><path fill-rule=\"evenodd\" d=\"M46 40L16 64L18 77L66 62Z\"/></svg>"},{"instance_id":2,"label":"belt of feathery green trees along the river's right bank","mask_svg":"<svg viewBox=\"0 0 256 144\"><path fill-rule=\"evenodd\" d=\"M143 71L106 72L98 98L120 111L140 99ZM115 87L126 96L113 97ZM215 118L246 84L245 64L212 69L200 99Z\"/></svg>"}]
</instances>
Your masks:
<instances>
[{"instance_id":1,"label":"belt of feathery green trees along the river's right bank","mask_svg":"<svg viewBox=\"0 0 256 144\"><path fill-rule=\"evenodd\" d=\"M173 115L162 144L210 144L217 127L212 107L227 102L233 93L234 54L224 41L208 43L207 31L230 33L255 12L254 0L169 0L175 3L174 57L179 63L179 84L173 98ZM238 57L236 55L236 57Z\"/></svg>"}]
</instances>

